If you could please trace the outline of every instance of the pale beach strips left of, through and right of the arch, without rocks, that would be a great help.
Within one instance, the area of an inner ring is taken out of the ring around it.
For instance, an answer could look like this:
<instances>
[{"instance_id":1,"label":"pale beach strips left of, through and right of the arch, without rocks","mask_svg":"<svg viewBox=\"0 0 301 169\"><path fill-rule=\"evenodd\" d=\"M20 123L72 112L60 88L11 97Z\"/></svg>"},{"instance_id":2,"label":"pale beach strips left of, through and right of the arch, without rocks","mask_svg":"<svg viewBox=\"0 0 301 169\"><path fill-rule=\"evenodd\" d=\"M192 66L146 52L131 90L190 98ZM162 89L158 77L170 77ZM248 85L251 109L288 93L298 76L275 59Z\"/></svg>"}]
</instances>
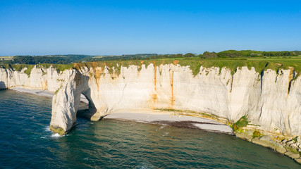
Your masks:
<instances>
[{"instance_id":1,"label":"pale beach strips left of, through and right of the arch, without rocks","mask_svg":"<svg viewBox=\"0 0 301 169\"><path fill-rule=\"evenodd\" d=\"M39 89L29 89L24 87L11 87L9 88L16 92L26 93L26 94L35 94L38 96L45 96L47 98L52 98L54 92L49 92L47 90ZM80 96L80 101L85 104L89 104L89 101L85 99L85 96ZM132 113L127 113L132 112ZM118 111L106 115L104 119L116 119L116 120L134 120L140 123L152 123L159 125L171 125L175 127L187 127L192 129L206 130L209 132L220 132L226 134L232 134L233 130L228 125L219 123L216 120L211 120L202 117L193 117L189 115L179 115L176 113L166 112L166 111L131 111L126 112Z\"/></svg>"}]
</instances>

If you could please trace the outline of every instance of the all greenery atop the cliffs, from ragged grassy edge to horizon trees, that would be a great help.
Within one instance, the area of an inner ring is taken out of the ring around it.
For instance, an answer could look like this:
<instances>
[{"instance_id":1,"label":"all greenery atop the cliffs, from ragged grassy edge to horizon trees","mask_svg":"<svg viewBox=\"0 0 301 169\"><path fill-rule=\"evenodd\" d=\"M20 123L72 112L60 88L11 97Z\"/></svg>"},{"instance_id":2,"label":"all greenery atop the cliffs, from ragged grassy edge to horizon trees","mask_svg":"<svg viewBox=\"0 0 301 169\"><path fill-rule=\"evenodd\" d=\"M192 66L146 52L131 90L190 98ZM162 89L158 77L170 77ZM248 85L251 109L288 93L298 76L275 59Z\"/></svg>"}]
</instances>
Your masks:
<instances>
[{"instance_id":1,"label":"all greenery atop the cliffs, from ragged grassy edge to horizon trees","mask_svg":"<svg viewBox=\"0 0 301 169\"><path fill-rule=\"evenodd\" d=\"M161 64L178 64L181 66L189 66L192 75L199 73L199 68L228 68L233 75L237 69L246 66L257 73L262 70L275 70L277 73L281 69L293 68L297 75L301 72L301 56L297 56L301 51L221 51L219 53L205 51L204 54L136 54L123 56L87 56L87 55L65 55L65 56L14 56L14 60L0 61L0 67L12 68L13 70L23 70L27 68L25 73L30 75L33 65L42 68L49 68L51 65L58 72L66 69L82 67L108 68L109 73L121 73L121 65L128 67L129 65L138 65L141 70L142 64L146 66L150 63L154 65ZM74 62L73 62L74 61ZM59 64L63 63L63 64ZM103 69L104 70L104 69Z\"/></svg>"}]
</instances>

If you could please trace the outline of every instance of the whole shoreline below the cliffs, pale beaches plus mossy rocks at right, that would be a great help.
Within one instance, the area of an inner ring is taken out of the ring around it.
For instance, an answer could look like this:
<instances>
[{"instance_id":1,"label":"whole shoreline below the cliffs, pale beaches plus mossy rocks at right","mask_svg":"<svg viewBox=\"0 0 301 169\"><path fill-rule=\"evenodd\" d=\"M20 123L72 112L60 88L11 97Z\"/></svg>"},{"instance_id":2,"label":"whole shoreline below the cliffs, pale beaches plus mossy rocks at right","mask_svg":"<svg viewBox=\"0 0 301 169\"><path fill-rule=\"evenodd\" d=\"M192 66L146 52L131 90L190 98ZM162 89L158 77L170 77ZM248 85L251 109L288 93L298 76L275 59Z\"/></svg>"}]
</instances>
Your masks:
<instances>
[{"instance_id":1,"label":"whole shoreline below the cliffs, pale beaches plus mossy rocks at right","mask_svg":"<svg viewBox=\"0 0 301 169\"><path fill-rule=\"evenodd\" d=\"M54 92L49 92L47 90L38 90L38 89L29 89L24 87L11 87L9 88L16 92L23 92L27 94L35 94L38 96L45 96L48 98L52 98ZM89 104L89 101L85 99L85 96L80 96L80 101L85 104ZM133 113L125 113L125 112L133 112ZM264 146L268 149L272 149L284 156L288 156L293 159L293 161L301 164L301 151L297 152L297 150L301 150L301 144L299 148L293 148L293 144L298 144L301 142L300 137L298 137L297 142L293 142L294 139L283 139L281 142L274 139L273 135L268 133L264 133L259 137L252 137L254 128L244 127L242 132L234 131L232 127L226 125L226 121L220 119L212 119L208 117L204 117L204 115L198 115L197 113L176 113L176 112L168 112L168 111L117 111L106 115L104 119L115 119L115 120L134 120L139 123L151 123L151 124L159 124L159 125L171 125L175 127L188 127L192 129L206 130L209 132L221 132L225 134L233 134L235 137L240 139L245 139L252 144L257 144L260 146ZM264 132L264 131L262 131ZM285 141L285 142L283 142Z\"/></svg>"}]
</instances>

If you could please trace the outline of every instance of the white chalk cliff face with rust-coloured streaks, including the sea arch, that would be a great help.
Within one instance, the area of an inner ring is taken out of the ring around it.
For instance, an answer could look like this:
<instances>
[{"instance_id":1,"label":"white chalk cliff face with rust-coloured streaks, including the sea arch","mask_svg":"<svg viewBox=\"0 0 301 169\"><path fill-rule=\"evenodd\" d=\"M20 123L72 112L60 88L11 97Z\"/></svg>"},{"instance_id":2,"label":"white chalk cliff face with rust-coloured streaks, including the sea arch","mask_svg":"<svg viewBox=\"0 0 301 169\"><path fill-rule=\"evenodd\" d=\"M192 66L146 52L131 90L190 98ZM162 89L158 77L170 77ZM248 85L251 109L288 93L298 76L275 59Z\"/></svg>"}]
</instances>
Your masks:
<instances>
[{"instance_id":1,"label":"white chalk cliff face with rust-coloured streaks, including the sea arch","mask_svg":"<svg viewBox=\"0 0 301 169\"><path fill-rule=\"evenodd\" d=\"M84 94L91 120L120 111L167 108L211 113L232 122L247 115L261 130L301 135L301 77L295 78L293 68L257 73L242 67L231 75L227 68L201 67L195 77L188 66L173 64L130 65L121 67L120 75L106 67L63 73L35 67L28 77L22 71L0 68L0 78L0 87L56 91L51 130L62 134L75 123L80 94Z\"/></svg>"}]
</instances>

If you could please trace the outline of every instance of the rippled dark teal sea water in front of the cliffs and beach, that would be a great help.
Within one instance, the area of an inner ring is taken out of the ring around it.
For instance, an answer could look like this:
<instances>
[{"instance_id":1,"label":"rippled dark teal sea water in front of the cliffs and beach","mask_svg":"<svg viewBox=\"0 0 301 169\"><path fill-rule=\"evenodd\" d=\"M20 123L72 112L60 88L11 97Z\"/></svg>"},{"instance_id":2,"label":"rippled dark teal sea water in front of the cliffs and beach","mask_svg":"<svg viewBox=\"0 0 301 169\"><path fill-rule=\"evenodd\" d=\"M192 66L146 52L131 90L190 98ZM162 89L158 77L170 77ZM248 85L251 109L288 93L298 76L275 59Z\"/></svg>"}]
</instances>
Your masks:
<instances>
[{"instance_id":1,"label":"rippled dark teal sea water in front of the cliffs and beach","mask_svg":"<svg viewBox=\"0 0 301 169\"><path fill-rule=\"evenodd\" d=\"M51 99L1 90L0 168L301 168L228 134L78 118L58 137L50 119Z\"/></svg>"}]
</instances>

